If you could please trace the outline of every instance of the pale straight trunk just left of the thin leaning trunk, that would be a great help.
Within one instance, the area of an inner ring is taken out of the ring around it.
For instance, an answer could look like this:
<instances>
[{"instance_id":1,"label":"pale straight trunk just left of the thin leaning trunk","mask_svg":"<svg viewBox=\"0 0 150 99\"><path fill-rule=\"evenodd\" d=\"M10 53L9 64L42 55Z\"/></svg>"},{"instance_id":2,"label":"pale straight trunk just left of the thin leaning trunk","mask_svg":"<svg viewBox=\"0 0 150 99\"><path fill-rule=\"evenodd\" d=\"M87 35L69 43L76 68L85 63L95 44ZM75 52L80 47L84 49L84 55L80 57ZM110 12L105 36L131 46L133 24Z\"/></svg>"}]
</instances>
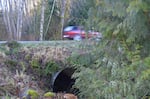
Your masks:
<instances>
[{"instance_id":1,"label":"pale straight trunk just left of the thin leaning trunk","mask_svg":"<svg viewBox=\"0 0 150 99\"><path fill-rule=\"evenodd\" d=\"M44 12L45 12L45 0L42 0L41 21L40 21L40 41L43 40Z\"/></svg>"}]
</instances>

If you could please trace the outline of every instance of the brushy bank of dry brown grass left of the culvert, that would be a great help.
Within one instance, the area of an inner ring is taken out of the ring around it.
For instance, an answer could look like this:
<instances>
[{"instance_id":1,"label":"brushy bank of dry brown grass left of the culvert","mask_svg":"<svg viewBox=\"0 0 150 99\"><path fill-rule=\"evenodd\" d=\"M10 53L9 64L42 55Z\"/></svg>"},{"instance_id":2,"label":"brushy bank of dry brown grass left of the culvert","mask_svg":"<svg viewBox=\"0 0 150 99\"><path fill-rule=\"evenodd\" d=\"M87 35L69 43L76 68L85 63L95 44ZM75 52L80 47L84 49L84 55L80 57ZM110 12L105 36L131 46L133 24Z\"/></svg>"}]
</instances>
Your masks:
<instances>
[{"instance_id":1,"label":"brushy bank of dry brown grass left of the culvert","mask_svg":"<svg viewBox=\"0 0 150 99\"><path fill-rule=\"evenodd\" d=\"M50 91L53 72L64 68L71 51L65 47L4 46L0 50L0 97L24 97L29 89ZM60 67L60 65L62 67Z\"/></svg>"}]
</instances>

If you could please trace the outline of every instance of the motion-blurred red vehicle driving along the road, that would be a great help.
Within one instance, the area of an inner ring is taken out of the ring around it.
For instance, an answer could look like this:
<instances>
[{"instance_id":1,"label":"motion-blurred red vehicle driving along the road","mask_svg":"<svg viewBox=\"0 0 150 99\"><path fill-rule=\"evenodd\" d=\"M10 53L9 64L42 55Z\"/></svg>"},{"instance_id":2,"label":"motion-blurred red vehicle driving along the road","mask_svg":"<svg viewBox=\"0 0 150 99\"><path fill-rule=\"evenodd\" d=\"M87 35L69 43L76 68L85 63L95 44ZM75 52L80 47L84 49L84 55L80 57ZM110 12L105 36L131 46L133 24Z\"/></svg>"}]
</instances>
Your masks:
<instances>
[{"instance_id":1,"label":"motion-blurred red vehicle driving along the road","mask_svg":"<svg viewBox=\"0 0 150 99\"><path fill-rule=\"evenodd\" d=\"M82 40L84 38L100 39L102 34L94 31L85 32L81 26L68 26L63 31L63 37L71 40Z\"/></svg>"}]
</instances>

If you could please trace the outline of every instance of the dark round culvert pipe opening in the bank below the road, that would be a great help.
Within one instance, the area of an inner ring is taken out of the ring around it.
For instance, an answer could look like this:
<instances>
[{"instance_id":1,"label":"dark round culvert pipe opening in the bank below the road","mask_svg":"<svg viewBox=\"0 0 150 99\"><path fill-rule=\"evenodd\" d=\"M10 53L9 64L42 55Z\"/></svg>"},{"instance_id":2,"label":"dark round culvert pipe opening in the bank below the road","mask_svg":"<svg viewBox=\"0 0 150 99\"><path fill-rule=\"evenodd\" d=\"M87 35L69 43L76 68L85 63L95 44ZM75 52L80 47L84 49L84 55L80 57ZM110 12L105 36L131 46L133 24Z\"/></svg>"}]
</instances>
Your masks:
<instances>
[{"instance_id":1,"label":"dark round culvert pipe opening in the bank below the road","mask_svg":"<svg viewBox=\"0 0 150 99\"><path fill-rule=\"evenodd\" d=\"M72 89L75 83L75 79L72 79L74 71L73 68L65 68L57 72L52 78L53 92L76 93L77 89Z\"/></svg>"}]
</instances>

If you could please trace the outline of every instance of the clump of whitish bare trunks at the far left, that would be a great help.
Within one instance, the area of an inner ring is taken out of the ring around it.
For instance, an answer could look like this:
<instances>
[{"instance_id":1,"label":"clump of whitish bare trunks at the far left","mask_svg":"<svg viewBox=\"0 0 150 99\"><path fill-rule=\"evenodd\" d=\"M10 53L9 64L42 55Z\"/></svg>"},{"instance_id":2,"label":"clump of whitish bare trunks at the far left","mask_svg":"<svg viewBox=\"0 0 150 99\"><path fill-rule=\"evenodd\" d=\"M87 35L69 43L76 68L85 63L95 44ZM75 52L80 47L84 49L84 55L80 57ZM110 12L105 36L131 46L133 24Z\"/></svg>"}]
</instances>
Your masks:
<instances>
[{"instance_id":1,"label":"clump of whitish bare trunks at the far left","mask_svg":"<svg viewBox=\"0 0 150 99\"><path fill-rule=\"evenodd\" d=\"M5 26L9 33L9 40L20 40L22 34L24 0L19 2L16 0L6 0L3 1L1 5ZM16 20L17 23L15 23Z\"/></svg>"}]
</instances>

